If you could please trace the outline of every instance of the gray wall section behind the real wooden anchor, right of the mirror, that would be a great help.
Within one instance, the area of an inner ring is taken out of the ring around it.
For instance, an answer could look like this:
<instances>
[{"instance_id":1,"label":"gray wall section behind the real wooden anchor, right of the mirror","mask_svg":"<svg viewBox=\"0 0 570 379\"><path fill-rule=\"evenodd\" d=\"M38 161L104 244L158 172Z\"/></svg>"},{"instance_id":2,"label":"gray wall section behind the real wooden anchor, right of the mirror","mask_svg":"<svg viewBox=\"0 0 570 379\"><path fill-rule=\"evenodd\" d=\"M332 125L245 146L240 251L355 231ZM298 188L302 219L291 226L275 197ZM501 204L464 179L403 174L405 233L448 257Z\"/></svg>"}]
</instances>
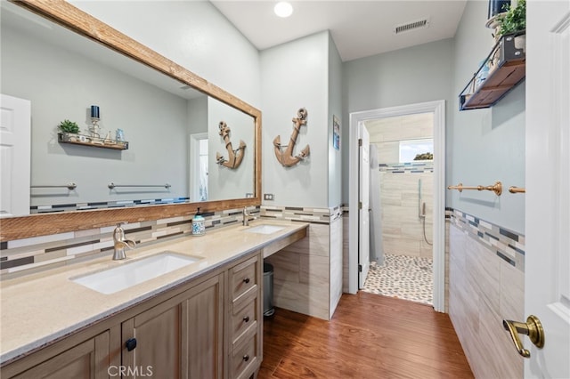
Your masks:
<instances>
[{"instance_id":1,"label":"gray wall section behind the real wooden anchor, right of the mirror","mask_svg":"<svg viewBox=\"0 0 570 379\"><path fill-rule=\"evenodd\" d=\"M273 193L266 206L328 207L329 201L329 32L324 31L261 52L263 94L263 191ZM293 156L309 145L308 159L283 167L273 139L289 144L291 119L308 111Z\"/></svg>"}]
</instances>

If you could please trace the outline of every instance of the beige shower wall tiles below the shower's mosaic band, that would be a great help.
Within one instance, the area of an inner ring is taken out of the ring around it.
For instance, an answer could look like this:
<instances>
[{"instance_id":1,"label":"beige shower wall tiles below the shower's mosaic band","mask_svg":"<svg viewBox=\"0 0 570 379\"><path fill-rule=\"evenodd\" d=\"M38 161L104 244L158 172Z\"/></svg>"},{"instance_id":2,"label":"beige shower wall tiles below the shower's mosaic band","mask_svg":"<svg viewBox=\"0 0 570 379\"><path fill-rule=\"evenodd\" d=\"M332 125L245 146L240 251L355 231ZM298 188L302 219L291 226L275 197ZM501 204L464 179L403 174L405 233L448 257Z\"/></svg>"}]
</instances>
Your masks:
<instances>
[{"instance_id":1,"label":"beige shower wall tiles below the shower's mosaic band","mask_svg":"<svg viewBox=\"0 0 570 379\"><path fill-rule=\"evenodd\" d=\"M419 184L426 203L426 236L432 242L433 189L431 171L425 173L380 173L382 240L386 254L431 258L432 246L424 240L419 219Z\"/></svg>"}]
</instances>

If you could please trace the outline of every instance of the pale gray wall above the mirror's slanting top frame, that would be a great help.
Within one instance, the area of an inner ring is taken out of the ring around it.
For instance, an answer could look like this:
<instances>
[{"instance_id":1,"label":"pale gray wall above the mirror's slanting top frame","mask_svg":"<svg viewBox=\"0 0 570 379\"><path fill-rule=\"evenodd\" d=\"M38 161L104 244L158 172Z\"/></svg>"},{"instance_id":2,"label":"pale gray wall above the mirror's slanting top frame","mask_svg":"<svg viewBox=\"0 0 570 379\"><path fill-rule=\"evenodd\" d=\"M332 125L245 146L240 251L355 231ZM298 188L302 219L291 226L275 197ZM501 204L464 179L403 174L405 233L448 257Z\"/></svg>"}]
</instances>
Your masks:
<instances>
[{"instance_id":1,"label":"pale gray wall above the mirror's slanting top frame","mask_svg":"<svg viewBox=\"0 0 570 379\"><path fill-rule=\"evenodd\" d=\"M71 1L208 82L259 108L259 54L206 1Z\"/></svg>"}]
</instances>

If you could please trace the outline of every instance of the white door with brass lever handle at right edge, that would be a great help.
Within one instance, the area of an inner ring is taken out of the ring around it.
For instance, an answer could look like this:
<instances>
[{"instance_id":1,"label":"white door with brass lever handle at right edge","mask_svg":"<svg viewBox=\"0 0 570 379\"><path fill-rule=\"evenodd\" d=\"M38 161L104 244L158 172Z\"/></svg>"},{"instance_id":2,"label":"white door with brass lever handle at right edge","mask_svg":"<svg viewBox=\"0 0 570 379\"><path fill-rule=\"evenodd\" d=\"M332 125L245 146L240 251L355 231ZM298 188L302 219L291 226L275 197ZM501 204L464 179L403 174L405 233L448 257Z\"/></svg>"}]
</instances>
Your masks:
<instances>
[{"instance_id":1,"label":"white door with brass lever handle at right edge","mask_svg":"<svg viewBox=\"0 0 570 379\"><path fill-rule=\"evenodd\" d=\"M570 1L527 8L525 316L545 335L522 338L525 377L570 378Z\"/></svg>"}]
</instances>

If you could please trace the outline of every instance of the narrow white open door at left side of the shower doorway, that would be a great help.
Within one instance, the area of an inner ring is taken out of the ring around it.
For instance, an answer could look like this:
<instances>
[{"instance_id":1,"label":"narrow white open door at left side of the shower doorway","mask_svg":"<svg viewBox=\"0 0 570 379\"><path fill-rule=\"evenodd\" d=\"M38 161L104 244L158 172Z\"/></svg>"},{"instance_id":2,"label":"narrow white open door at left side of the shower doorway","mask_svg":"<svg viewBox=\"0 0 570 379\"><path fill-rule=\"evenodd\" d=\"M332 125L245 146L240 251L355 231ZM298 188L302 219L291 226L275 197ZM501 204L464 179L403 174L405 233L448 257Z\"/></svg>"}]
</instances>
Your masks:
<instances>
[{"instance_id":1,"label":"narrow white open door at left side of the shower doorway","mask_svg":"<svg viewBox=\"0 0 570 379\"><path fill-rule=\"evenodd\" d=\"M364 281L371 265L371 214L370 214L370 181L371 181L371 139L368 130L362 123L358 125L358 287L364 287Z\"/></svg>"}]
</instances>

